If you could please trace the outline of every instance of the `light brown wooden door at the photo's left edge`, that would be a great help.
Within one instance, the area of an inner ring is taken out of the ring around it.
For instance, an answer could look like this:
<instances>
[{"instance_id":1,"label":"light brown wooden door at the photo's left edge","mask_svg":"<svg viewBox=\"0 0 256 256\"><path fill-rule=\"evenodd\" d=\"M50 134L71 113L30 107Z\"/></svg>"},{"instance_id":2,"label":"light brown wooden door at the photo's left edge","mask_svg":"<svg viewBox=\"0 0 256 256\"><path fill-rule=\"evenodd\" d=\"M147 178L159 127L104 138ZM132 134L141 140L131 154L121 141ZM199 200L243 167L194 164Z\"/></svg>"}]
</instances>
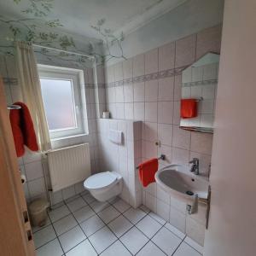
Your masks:
<instances>
[{"instance_id":1,"label":"light brown wooden door at the photo's left edge","mask_svg":"<svg viewBox=\"0 0 256 256\"><path fill-rule=\"evenodd\" d=\"M0 78L0 254L35 255L9 111Z\"/></svg>"}]
</instances>

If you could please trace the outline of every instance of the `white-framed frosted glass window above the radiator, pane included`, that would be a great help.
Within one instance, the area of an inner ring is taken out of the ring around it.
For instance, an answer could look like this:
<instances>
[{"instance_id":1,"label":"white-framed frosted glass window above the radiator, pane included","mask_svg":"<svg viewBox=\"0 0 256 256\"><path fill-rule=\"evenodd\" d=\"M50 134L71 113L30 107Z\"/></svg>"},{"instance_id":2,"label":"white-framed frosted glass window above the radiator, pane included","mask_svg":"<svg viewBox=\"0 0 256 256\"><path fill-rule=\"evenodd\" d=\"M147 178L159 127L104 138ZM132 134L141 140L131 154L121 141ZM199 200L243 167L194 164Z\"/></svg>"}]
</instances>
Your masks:
<instances>
[{"instance_id":1,"label":"white-framed frosted glass window above the radiator, pane included","mask_svg":"<svg viewBox=\"0 0 256 256\"><path fill-rule=\"evenodd\" d=\"M80 86L83 71L38 65L51 139L84 133Z\"/></svg>"}]
</instances>

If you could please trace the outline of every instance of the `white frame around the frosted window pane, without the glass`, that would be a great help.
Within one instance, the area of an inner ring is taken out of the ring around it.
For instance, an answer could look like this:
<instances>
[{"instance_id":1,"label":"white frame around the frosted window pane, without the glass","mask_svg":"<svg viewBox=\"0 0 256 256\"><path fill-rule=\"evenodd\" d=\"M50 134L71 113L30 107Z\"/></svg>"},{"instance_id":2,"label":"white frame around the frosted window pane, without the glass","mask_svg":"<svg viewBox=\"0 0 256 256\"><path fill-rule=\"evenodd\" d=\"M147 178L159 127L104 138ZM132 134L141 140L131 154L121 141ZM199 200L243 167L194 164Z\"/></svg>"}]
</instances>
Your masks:
<instances>
[{"instance_id":1,"label":"white frame around the frosted window pane, without the glass","mask_svg":"<svg viewBox=\"0 0 256 256\"><path fill-rule=\"evenodd\" d=\"M38 64L38 75L40 79L60 79L72 81L73 94L73 113L76 122L75 128L63 128L49 130L51 140L61 139L64 137L76 137L84 134L84 112L82 108L81 85L84 84L84 72L80 69L68 67L55 67L49 65ZM42 91L42 88L41 88ZM43 96L42 96L43 97ZM43 98L44 103L44 98ZM47 116L46 116L47 119ZM48 120L47 120L48 122ZM49 129L49 125L48 125Z\"/></svg>"}]
</instances>

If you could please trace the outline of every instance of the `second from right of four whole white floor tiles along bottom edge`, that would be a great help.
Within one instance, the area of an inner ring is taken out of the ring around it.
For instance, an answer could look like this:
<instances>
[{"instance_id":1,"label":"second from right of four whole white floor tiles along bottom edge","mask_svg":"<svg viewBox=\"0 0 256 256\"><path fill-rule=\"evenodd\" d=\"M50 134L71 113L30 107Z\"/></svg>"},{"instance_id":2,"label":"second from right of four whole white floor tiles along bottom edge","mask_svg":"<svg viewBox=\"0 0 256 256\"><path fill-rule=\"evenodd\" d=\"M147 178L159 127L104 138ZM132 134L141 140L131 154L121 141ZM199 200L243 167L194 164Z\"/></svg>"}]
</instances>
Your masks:
<instances>
[{"instance_id":1,"label":"second from right of four whole white floor tiles along bottom edge","mask_svg":"<svg viewBox=\"0 0 256 256\"><path fill-rule=\"evenodd\" d=\"M120 241L125 244L125 247L132 254L136 254L148 242L148 238L136 227L133 227L124 236L120 237Z\"/></svg>"}]
</instances>

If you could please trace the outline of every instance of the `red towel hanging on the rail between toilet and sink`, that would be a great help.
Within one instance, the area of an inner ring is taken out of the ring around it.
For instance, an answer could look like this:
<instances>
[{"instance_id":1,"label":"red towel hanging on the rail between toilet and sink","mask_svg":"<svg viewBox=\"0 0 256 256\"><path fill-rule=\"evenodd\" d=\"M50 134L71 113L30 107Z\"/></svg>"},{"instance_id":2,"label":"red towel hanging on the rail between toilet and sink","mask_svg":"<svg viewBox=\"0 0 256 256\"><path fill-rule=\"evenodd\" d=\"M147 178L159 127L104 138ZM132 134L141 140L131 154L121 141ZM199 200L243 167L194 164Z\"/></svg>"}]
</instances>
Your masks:
<instances>
[{"instance_id":1,"label":"red towel hanging on the rail between toilet and sink","mask_svg":"<svg viewBox=\"0 0 256 256\"><path fill-rule=\"evenodd\" d=\"M148 160L140 164L139 166L139 178L143 187L147 187L148 184L154 183L154 174L158 170L158 160L156 158Z\"/></svg>"}]
</instances>

